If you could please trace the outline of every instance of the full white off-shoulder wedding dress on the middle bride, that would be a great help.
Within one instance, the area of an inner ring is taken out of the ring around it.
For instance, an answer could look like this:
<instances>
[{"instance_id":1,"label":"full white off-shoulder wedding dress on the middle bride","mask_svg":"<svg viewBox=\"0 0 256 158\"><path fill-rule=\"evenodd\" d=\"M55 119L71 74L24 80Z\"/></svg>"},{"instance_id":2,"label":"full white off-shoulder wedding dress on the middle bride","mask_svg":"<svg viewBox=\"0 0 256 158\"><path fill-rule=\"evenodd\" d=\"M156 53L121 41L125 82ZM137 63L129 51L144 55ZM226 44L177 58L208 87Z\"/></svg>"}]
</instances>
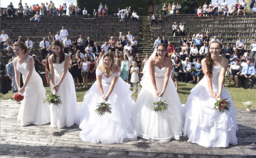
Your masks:
<instances>
[{"instance_id":1,"label":"full white off-shoulder wedding dress on the middle bride","mask_svg":"<svg viewBox=\"0 0 256 158\"><path fill-rule=\"evenodd\" d=\"M107 94L113 77L119 77L120 72L114 72L111 77L107 78L100 70L96 69L96 75L102 76L102 88ZM136 140L131 121L134 107L131 95L129 84L119 77L107 101L111 104L112 113L100 116L95 112L97 103L102 102L102 94L97 88L96 81L86 92L78 113L76 123L82 130L80 132L82 141L114 144L122 143L123 140Z\"/></svg>"}]
</instances>

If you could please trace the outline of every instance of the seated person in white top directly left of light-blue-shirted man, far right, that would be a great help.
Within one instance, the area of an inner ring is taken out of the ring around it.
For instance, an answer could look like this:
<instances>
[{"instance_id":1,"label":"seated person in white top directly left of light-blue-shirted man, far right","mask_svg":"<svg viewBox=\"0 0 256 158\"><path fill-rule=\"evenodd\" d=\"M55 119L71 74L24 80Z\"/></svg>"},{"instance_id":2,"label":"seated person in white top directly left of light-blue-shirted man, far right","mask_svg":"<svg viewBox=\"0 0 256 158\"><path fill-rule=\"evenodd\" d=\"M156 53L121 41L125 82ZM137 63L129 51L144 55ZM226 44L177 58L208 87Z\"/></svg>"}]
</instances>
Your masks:
<instances>
[{"instance_id":1,"label":"seated person in white top directly left of light-blue-shirted man, far right","mask_svg":"<svg viewBox=\"0 0 256 158\"><path fill-rule=\"evenodd\" d=\"M231 64L230 69L229 69L230 77L229 77L229 80L228 80L228 86L230 86L230 82L233 79L235 79L235 88L238 88L238 77L239 77L239 74L241 72L241 67L238 63L239 63L239 60L235 59L234 64Z\"/></svg>"}]
</instances>

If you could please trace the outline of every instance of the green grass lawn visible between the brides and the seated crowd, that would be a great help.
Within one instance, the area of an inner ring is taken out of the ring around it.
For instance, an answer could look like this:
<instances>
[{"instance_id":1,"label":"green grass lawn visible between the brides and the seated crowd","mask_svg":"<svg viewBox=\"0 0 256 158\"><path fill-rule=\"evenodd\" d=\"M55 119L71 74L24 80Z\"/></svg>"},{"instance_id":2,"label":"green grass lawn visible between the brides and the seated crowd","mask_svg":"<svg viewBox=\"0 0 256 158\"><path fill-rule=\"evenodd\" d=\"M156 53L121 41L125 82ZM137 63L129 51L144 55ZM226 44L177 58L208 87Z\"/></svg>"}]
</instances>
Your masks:
<instances>
[{"instance_id":1,"label":"green grass lawn visible between the brides and the seated crowd","mask_svg":"<svg viewBox=\"0 0 256 158\"><path fill-rule=\"evenodd\" d=\"M190 90L196 86L195 84L187 84L187 83L178 83L178 96L181 99L181 103L186 103L186 99L188 98L188 95L190 94ZM78 102L81 102L83 100L83 96L85 95L85 92L90 89L90 86L86 89L77 89L77 99ZM231 98L233 99L235 103L235 108L245 108L243 106L242 102L245 101L252 101L254 104L252 108L256 108L256 89L242 89L242 88L235 88L234 86L225 87L225 89L228 89L228 92L231 95ZM50 87L46 86L47 94L50 93ZM2 95L0 94L1 100L7 100L9 98L12 98L13 94L11 94L11 91L9 91L8 94ZM135 95L137 96L137 95Z\"/></svg>"}]
</instances>

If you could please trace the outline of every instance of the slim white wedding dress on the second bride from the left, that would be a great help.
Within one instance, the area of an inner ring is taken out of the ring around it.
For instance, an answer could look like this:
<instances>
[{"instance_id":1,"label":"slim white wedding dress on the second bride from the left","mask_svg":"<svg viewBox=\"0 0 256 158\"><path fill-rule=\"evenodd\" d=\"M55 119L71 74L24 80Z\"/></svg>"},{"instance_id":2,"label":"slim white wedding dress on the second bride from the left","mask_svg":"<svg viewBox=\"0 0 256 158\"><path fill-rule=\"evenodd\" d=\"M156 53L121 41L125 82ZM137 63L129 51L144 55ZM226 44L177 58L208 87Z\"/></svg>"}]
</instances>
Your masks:
<instances>
[{"instance_id":1,"label":"slim white wedding dress on the second bride from the left","mask_svg":"<svg viewBox=\"0 0 256 158\"><path fill-rule=\"evenodd\" d=\"M53 55L50 55L52 60ZM65 59L68 55L65 54ZM58 61L58 58L57 58ZM56 64L53 63L55 84L58 84L64 72L65 60ZM55 93L51 88L52 93ZM50 104L50 127L52 128L69 128L75 124L75 117L77 115L77 99L75 94L75 84L70 72L67 72L62 83L59 86L58 92L55 93L60 96L62 103L58 106Z\"/></svg>"}]
</instances>

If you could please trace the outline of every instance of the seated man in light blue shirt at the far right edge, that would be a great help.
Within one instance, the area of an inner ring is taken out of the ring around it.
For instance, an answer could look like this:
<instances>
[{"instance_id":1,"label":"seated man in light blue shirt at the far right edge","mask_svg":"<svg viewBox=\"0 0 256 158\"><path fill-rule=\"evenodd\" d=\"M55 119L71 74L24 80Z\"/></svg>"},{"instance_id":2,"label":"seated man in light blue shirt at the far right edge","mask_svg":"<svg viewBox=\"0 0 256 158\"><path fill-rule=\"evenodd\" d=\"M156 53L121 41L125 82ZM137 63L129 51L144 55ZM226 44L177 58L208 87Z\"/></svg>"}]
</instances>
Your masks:
<instances>
[{"instance_id":1,"label":"seated man in light blue shirt at the far right edge","mask_svg":"<svg viewBox=\"0 0 256 158\"><path fill-rule=\"evenodd\" d=\"M247 60L247 65L242 67L242 75L241 75L241 84L242 87L245 89L245 79L252 79L249 89L252 89L252 86L255 84L255 67L250 64L250 60Z\"/></svg>"}]
</instances>

